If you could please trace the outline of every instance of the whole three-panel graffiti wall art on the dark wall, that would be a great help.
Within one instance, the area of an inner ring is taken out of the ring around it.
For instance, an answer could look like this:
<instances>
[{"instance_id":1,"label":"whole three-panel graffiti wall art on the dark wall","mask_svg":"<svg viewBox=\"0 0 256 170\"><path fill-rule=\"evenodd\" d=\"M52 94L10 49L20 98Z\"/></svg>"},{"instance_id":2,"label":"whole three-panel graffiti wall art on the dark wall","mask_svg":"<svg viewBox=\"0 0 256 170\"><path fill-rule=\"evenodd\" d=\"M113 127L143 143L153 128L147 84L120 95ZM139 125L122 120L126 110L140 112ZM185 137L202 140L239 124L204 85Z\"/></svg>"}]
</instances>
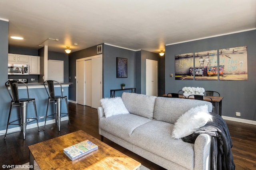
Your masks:
<instances>
[{"instance_id":1,"label":"whole three-panel graffiti wall art on the dark wall","mask_svg":"<svg viewBox=\"0 0 256 170\"><path fill-rule=\"evenodd\" d=\"M247 46L175 55L175 80L248 80Z\"/></svg>"}]
</instances>

